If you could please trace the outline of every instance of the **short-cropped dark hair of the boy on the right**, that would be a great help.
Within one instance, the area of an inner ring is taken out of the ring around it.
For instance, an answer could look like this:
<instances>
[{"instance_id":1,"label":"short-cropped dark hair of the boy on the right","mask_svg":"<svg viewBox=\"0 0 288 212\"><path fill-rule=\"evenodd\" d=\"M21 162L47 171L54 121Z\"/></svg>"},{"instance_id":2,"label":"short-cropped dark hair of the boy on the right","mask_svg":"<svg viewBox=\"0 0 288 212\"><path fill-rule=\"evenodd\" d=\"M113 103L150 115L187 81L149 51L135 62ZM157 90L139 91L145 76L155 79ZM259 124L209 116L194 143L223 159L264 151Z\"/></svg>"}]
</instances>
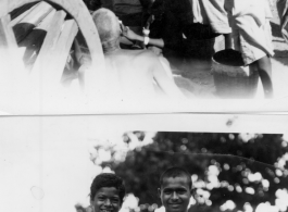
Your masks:
<instances>
[{"instance_id":1,"label":"short-cropped dark hair of the boy on the right","mask_svg":"<svg viewBox=\"0 0 288 212\"><path fill-rule=\"evenodd\" d=\"M161 177L160 177L160 187L163 185L163 179L167 178L167 177L178 177L178 176L186 176L188 184L189 184L189 188L192 188L192 182L191 182L191 175L188 171L186 171L183 167L170 167L167 169L165 172L162 173Z\"/></svg>"}]
</instances>

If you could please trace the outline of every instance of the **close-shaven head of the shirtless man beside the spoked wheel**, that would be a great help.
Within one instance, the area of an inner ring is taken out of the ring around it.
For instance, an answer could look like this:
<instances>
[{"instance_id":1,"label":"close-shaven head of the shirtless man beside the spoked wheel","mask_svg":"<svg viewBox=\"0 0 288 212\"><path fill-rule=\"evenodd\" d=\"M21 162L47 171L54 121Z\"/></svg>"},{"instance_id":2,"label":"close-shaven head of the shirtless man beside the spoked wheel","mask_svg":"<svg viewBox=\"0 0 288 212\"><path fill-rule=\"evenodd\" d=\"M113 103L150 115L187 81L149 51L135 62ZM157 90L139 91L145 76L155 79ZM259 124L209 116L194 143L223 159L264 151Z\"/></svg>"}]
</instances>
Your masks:
<instances>
[{"instance_id":1,"label":"close-shaven head of the shirtless man beside the spoked wheel","mask_svg":"<svg viewBox=\"0 0 288 212\"><path fill-rule=\"evenodd\" d=\"M121 27L116 15L108 9L99 9L92 14L93 23L97 27L103 49L110 46L117 46Z\"/></svg>"}]
</instances>

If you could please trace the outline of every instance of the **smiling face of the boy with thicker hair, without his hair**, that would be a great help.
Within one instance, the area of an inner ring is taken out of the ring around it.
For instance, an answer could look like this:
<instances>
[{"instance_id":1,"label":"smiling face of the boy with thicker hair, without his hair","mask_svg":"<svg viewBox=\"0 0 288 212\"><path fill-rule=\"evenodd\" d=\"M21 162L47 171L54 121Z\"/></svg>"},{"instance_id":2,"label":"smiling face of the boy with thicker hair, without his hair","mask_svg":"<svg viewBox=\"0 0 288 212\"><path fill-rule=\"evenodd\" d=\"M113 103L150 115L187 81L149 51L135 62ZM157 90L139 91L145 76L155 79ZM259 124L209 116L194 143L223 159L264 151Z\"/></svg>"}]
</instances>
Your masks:
<instances>
[{"instance_id":1,"label":"smiling face of the boy with thicker hair, without his hair","mask_svg":"<svg viewBox=\"0 0 288 212\"><path fill-rule=\"evenodd\" d=\"M118 212L121 209L118 190L115 187L102 187L96 192L90 203L95 212Z\"/></svg>"}]
</instances>

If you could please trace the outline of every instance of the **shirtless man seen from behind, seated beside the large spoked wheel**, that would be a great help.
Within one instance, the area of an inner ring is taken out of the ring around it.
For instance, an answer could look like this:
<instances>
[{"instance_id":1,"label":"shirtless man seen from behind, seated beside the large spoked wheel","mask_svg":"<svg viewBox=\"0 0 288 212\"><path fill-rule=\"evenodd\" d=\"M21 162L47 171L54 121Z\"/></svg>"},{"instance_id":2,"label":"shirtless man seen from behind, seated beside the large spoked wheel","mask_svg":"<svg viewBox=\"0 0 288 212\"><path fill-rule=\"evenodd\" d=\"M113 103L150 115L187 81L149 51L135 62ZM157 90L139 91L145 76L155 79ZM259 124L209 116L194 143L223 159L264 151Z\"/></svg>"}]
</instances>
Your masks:
<instances>
[{"instance_id":1,"label":"shirtless man seen from behind, seated beside the large spoked wheel","mask_svg":"<svg viewBox=\"0 0 288 212\"><path fill-rule=\"evenodd\" d=\"M105 57L107 97L128 99L152 99L160 88L166 96L184 98L184 95L168 77L161 59L147 50L124 50L120 48L122 30L113 12L100 9L92 14Z\"/></svg>"}]
</instances>

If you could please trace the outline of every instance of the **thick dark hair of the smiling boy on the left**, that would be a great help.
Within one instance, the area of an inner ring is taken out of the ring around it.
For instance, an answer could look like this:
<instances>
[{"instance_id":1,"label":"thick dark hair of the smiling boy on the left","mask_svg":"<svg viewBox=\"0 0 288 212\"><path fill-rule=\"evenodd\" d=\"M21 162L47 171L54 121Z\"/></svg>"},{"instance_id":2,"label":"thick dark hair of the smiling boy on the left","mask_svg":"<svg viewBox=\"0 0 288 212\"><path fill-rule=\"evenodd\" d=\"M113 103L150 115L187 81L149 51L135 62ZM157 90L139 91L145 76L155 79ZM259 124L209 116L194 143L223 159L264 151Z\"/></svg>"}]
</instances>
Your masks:
<instances>
[{"instance_id":1,"label":"thick dark hair of the smiling boy on the left","mask_svg":"<svg viewBox=\"0 0 288 212\"><path fill-rule=\"evenodd\" d=\"M125 187L123 179L115 174L102 173L95 177L90 187L90 200L95 199L97 191L103 187L114 187L118 190L121 203L125 196Z\"/></svg>"}]
</instances>

